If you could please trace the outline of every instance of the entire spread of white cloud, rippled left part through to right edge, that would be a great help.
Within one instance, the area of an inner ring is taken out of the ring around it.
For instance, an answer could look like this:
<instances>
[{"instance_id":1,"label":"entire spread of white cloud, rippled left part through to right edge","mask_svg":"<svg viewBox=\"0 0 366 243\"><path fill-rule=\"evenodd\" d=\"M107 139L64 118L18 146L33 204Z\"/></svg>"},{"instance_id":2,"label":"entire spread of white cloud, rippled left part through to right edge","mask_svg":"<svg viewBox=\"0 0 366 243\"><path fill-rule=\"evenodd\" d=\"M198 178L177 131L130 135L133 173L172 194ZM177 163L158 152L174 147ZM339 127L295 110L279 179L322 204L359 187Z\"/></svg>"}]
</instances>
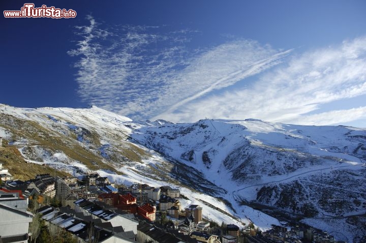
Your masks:
<instances>
[{"instance_id":1,"label":"entire spread of white cloud, rippled left part through to right edge","mask_svg":"<svg viewBox=\"0 0 366 243\"><path fill-rule=\"evenodd\" d=\"M364 117L365 104L317 110L366 94L366 37L302 54L235 38L193 49L188 46L197 32L189 29L102 29L87 19L69 54L79 57L78 91L89 104L133 119L172 121L253 117L324 125Z\"/></svg>"}]
</instances>

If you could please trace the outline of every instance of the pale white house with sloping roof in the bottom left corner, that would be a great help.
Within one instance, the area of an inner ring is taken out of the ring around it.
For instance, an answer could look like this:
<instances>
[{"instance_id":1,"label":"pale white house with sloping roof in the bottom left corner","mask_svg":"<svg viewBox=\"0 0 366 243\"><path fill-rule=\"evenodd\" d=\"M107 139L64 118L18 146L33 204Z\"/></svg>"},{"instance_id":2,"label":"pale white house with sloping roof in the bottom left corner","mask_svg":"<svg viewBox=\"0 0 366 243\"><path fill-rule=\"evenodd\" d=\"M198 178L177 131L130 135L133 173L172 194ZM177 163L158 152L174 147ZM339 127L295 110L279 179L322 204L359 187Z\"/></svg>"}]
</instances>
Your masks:
<instances>
[{"instance_id":1,"label":"pale white house with sloping roof in the bottom left corner","mask_svg":"<svg viewBox=\"0 0 366 243\"><path fill-rule=\"evenodd\" d=\"M31 212L20 211L0 203L0 242L28 241L29 223L33 221Z\"/></svg>"}]
</instances>

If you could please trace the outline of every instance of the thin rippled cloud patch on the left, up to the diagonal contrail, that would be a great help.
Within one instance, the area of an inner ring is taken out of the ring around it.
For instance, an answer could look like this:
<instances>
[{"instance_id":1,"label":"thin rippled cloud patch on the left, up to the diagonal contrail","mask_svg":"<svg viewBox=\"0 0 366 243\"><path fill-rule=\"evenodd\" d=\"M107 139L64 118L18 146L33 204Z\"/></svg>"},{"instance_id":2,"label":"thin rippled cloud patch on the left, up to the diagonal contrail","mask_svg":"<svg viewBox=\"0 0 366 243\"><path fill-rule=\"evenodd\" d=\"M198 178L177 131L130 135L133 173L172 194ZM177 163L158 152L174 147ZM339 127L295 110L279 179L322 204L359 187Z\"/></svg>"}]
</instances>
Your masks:
<instances>
[{"instance_id":1,"label":"thin rippled cloud patch on the left, up to the diagonal contrail","mask_svg":"<svg viewBox=\"0 0 366 243\"><path fill-rule=\"evenodd\" d=\"M196 31L157 26L118 26L107 31L88 17L77 27L82 40L77 82L84 102L132 118L169 113L281 62L290 51L236 39L214 47L188 48Z\"/></svg>"}]
</instances>

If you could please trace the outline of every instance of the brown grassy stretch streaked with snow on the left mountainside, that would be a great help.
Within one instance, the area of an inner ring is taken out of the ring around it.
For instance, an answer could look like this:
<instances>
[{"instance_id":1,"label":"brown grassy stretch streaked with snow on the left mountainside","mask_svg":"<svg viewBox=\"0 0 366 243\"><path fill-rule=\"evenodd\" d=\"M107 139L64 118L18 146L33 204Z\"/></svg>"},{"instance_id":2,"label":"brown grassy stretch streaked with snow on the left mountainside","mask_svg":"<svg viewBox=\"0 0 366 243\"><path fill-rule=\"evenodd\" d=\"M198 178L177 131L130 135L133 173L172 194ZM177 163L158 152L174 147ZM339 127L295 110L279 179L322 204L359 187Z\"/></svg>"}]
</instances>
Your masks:
<instances>
[{"instance_id":1,"label":"brown grassy stretch streaked with snow on the left mountainside","mask_svg":"<svg viewBox=\"0 0 366 243\"><path fill-rule=\"evenodd\" d=\"M42 116L42 115L41 115ZM49 120L46 116L43 117ZM60 120L60 119L59 119ZM67 124L72 125L71 121ZM42 162L42 158L32 158L37 148L43 148L54 154L62 151L68 158L85 165L89 170L105 169L121 174L116 168L123 166L124 162L140 162L148 157L145 151L134 144L127 142L124 134L115 131L106 136L114 137L116 143L108 146L105 150L106 156L101 154L101 137L92 130L77 127L69 129L64 123L50 123L44 126L32 120L25 120L9 114L0 114L0 127L10 131L12 134L10 141L25 142L17 145L18 149L23 149L26 158ZM76 127L76 126L75 126ZM82 137L82 142L78 138Z\"/></svg>"}]
</instances>

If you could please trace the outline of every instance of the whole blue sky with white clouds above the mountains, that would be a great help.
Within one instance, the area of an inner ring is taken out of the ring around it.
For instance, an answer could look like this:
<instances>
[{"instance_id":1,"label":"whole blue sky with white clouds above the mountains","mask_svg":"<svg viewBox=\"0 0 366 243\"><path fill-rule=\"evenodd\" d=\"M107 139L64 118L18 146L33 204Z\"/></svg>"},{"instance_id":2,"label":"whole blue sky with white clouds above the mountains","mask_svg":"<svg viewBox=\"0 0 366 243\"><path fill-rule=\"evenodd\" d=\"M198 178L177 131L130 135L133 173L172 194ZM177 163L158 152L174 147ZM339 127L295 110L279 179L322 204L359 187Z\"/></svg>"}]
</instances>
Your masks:
<instances>
[{"instance_id":1,"label":"whole blue sky with white clouds above the mountains","mask_svg":"<svg viewBox=\"0 0 366 243\"><path fill-rule=\"evenodd\" d=\"M1 17L0 103L366 127L364 1L32 3L77 16Z\"/></svg>"}]
</instances>

